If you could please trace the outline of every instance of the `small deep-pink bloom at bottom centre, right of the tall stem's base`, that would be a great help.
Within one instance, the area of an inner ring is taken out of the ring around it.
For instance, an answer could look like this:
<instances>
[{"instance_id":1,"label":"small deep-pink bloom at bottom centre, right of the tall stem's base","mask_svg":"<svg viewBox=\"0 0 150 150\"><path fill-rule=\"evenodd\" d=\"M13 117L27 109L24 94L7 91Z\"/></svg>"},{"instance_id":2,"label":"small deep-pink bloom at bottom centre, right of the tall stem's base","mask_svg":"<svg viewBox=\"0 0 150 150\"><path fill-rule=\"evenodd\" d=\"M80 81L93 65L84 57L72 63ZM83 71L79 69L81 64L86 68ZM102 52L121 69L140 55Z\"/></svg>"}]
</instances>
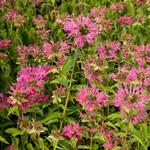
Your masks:
<instances>
[{"instance_id":1,"label":"small deep-pink bloom at bottom centre, right of the tall stem's base","mask_svg":"<svg viewBox=\"0 0 150 150\"><path fill-rule=\"evenodd\" d=\"M77 123L70 123L63 128L62 134L69 139L72 137L80 139L81 127Z\"/></svg>"}]
</instances>

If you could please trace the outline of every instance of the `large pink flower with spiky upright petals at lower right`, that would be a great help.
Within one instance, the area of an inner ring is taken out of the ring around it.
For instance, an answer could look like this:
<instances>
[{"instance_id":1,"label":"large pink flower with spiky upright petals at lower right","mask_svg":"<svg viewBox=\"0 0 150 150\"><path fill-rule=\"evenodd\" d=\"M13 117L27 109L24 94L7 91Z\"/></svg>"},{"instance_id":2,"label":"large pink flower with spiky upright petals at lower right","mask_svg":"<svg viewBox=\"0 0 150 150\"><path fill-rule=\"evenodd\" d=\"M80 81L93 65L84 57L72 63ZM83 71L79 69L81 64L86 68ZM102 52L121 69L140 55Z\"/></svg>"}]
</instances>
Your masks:
<instances>
[{"instance_id":1,"label":"large pink flower with spiky upright petals at lower right","mask_svg":"<svg viewBox=\"0 0 150 150\"><path fill-rule=\"evenodd\" d=\"M141 86L124 84L115 93L114 105L119 107L122 113L129 114L129 119L133 122L145 118L147 102L148 95Z\"/></svg>"}]
</instances>

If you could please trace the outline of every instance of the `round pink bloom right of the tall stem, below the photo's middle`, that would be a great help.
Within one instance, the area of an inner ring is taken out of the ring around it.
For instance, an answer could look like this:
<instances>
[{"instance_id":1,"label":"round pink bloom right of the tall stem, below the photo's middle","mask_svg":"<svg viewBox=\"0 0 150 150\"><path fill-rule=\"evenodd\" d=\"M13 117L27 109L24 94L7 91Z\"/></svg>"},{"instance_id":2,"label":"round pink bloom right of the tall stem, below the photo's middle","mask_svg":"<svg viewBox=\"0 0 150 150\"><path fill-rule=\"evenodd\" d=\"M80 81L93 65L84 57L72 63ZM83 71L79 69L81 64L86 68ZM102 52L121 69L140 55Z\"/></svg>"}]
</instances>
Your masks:
<instances>
[{"instance_id":1,"label":"round pink bloom right of the tall stem, below the photo's middle","mask_svg":"<svg viewBox=\"0 0 150 150\"><path fill-rule=\"evenodd\" d=\"M99 106L105 106L107 104L106 96L95 87L89 88L86 86L81 89L78 92L76 100L87 112L97 110Z\"/></svg>"}]
</instances>

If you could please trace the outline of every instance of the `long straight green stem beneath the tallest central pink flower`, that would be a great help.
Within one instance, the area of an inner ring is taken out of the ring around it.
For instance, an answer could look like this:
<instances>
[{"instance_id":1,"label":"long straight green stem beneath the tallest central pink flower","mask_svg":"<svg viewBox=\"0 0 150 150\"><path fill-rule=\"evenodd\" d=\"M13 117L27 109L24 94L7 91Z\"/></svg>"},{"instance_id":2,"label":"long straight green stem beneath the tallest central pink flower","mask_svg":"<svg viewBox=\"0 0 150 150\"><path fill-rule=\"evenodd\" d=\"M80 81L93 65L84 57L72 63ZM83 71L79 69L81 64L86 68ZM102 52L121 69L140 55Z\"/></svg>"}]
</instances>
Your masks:
<instances>
[{"instance_id":1,"label":"long straight green stem beneath the tallest central pink flower","mask_svg":"<svg viewBox=\"0 0 150 150\"><path fill-rule=\"evenodd\" d=\"M69 102L69 98L70 98L70 92L71 92L71 86L72 86L74 70L75 70L75 66L76 66L77 55L78 55L78 48L76 48L76 50L75 50L73 68L72 68L71 77L70 77L70 81L69 81L68 93L67 93L67 97L66 97L66 101L65 101L65 107L64 107L64 110L63 110L63 119L66 116L67 106L68 106L68 102ZM63 119L60 122L60 130L62 129L62 126L63 126Z\"/></svg>"}]
</instances>

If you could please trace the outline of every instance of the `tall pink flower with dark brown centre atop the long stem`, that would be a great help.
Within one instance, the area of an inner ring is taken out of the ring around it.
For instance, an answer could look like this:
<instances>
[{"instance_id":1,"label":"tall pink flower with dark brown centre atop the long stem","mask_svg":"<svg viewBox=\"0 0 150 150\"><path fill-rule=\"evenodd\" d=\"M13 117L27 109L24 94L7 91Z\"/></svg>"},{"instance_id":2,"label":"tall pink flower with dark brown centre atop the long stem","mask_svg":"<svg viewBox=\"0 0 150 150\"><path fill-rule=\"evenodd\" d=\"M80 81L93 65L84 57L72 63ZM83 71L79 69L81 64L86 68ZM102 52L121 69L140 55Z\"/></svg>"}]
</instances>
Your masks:
<instances>
[{"instance_id":1,"label":"tall pink flower with dark brown centre atop the long stem","mask_svg":"<svg viewBox=\"0 0 150 150\"><path fill-rule=\"evenodd\" d=\"M68 38L74 38L74 44L82 48L85 43L92 44L98 36L96 24L89 17L79 16L75 19L68 18L64 23L64 30Z\"/></svg>"}]
</instances>

